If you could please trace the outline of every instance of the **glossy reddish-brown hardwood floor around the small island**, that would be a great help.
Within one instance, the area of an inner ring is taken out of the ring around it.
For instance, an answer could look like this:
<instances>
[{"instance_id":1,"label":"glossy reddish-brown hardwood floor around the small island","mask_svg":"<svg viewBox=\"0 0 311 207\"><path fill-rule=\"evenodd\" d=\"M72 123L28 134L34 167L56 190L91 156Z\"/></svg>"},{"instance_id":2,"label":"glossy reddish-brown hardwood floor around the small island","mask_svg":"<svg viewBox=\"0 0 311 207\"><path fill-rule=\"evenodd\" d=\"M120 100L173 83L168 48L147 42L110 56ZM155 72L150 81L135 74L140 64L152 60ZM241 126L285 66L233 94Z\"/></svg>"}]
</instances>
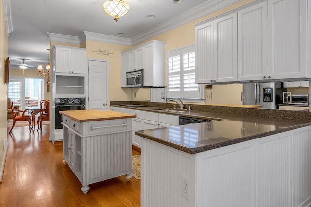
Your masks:
<instances>
[{"instance_id":1,"label":"glossy reddish-brown hardwood floor around the small island","mask_svg":"<svg viewBox=\"0 0 311 207\"><path fill-rule=\"evenodd\" d=\"M9 129L8 129L9 130ZM124 176L91 184L87 194L68 165L63 165L62 143L48 141L42 132L14 127L8 135L8 153L0 184L4 207L140 207L140 180ZM140 154L133 149L133 155Z\"/></svg>"}]
</instances>

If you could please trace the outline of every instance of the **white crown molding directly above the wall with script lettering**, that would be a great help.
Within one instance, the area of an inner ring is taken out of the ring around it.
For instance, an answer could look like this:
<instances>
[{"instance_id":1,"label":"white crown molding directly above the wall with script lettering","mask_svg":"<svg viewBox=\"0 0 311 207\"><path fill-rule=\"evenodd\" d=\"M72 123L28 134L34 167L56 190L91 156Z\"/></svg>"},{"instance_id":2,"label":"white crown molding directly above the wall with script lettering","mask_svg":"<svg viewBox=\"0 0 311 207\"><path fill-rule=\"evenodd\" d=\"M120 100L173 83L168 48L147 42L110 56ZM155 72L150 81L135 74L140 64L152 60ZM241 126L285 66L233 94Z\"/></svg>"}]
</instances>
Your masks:
<instances>
[{"instance_id":1,"label":"white crown molding directly above the wall with script lettering","mask_svg":"<svg viewBox=\"0 0 311 207\"><path fill-rule=\"evenodd\" d=\"M85 40L132 46L132 42L129 38L112 36L112 35L104 35L100 33L93 33L93 32L87 32L87 31L83 31L83 34L85 35Z\"/></svg>"}]
</instances>

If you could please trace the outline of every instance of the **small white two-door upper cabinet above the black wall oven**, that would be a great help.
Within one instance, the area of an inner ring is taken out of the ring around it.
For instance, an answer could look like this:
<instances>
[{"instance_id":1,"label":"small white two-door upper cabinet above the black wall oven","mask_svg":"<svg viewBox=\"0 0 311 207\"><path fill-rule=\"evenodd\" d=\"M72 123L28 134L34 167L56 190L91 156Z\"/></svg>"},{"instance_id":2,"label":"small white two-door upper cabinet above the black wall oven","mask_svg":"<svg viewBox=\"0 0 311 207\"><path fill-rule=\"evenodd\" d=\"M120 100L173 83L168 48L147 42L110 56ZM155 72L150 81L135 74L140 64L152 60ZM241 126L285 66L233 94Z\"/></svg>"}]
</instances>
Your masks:
<instances>
[{"instance_id":1,"label":"small white two-door upper cabinet above the black wall oven","mask_svg":"<svg viewBox=\"0 0 311 207\"><path fill-rule=\"evenodd\" d=\"M52 54L56 73L86 74L86 49L54 45Z\"/></svg>"}]
</instances>

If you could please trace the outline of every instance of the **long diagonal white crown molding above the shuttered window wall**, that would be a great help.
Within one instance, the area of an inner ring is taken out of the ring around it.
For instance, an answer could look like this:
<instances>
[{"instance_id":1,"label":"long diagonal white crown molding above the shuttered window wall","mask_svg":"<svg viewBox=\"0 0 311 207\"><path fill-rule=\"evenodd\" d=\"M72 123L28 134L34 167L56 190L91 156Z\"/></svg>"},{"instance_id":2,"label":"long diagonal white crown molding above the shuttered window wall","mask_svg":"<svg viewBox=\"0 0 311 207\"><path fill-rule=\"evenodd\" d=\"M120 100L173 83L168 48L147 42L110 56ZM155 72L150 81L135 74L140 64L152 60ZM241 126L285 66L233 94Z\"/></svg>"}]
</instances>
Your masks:
<instances>
[{"instance_id":1,"label":"long diagonal white crown molding above the shuttered window wall","mask_svg":"<svg viewBox=\"0 0 311 207\"><path fill-rule=\"evenodd\" d=\"M238 3L242 0L208 0L206 3L201 4L185 13L182 13L154 28L147 30L139 35L131 38L132 45L136 45L154 36L161 35L165 32L173 30L182 25L188 24L199 18L205 17L213 12L224 9L230 5Z\"/></svg>"}]
</instances>

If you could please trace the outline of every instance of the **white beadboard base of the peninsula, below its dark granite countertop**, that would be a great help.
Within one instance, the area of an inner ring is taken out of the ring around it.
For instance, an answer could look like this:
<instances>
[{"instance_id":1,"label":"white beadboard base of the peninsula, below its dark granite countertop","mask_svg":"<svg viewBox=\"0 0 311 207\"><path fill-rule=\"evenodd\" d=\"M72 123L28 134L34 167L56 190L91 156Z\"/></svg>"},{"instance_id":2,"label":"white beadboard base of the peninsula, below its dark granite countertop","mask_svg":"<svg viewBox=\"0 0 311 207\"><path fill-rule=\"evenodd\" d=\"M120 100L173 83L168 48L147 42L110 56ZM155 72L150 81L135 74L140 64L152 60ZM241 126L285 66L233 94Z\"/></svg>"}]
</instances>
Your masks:
<instances>
[{"instance_id":1,"label":"white beadboard base of the peninsula, below its dark granite countertop","mask_svg":"<svg viewBox=\"0 0 311 207\"><path fill-rule=\"evenodd\" d=\"M310 206L310 146L311 126L197 154L142 138L141 206Z\"/></svg>"}]
</instances>

